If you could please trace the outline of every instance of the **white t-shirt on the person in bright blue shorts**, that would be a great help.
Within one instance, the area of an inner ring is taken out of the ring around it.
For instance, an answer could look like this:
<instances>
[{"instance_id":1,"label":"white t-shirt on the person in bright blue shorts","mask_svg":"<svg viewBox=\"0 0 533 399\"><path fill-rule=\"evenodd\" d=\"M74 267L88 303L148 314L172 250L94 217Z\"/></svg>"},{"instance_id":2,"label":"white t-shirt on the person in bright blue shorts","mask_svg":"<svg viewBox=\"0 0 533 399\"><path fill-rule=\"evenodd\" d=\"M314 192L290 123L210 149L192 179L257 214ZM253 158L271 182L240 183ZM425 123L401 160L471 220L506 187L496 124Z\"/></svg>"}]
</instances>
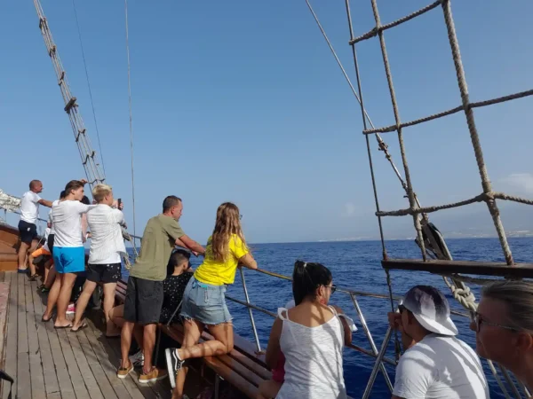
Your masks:
<instances>
[{"instance_id":1,"label":"white t-shirt on the person in bright blue shorts","mask_svg":"<svg viewBox=\"0 0 533 399\"><path fill-rule=\"evenodd\" d=\"M52 224L55 231L53 246L84 246L82 239L82 214L96 205L85 205L76 200L60 201L52 207Z\"/></svg>"}]
</instances>

